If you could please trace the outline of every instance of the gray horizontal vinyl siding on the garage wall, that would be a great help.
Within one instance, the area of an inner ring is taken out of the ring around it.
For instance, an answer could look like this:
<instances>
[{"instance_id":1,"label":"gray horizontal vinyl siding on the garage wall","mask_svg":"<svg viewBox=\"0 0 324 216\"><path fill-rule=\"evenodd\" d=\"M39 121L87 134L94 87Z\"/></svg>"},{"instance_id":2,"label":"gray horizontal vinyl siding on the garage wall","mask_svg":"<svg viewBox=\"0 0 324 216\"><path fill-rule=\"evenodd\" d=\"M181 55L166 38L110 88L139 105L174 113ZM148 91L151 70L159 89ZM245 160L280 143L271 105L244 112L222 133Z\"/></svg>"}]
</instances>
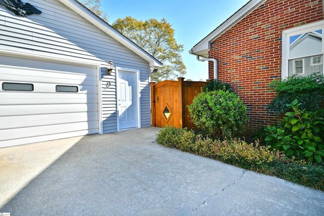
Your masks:
<instances>
[{"instance_id":1,"label":"gray horizontal vinyl siding on the garage wall","mask_svg":"<svg viewBox=\"0 0 324 216\"><path fill-rule=\"evenodd\" d=\"M141 126L150 125L149 64L61 3L28 1L40 15L20 17L0 7L0 50L140 71ZM110 87L107 83L110 82ZM103 133L117 131L116 77L101 80Z\"/></svg>"}]
</instances>

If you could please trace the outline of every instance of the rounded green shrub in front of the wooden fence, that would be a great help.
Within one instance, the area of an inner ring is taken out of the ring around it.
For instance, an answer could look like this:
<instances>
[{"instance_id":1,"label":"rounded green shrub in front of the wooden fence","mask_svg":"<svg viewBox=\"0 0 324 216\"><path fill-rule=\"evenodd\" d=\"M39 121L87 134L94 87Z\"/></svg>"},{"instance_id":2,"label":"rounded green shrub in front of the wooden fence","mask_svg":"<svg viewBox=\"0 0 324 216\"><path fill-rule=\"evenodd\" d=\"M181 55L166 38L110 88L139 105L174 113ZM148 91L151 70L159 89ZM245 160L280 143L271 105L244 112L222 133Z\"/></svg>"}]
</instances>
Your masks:
<instances>
[{"instance_id":1,"label":"rounded green shrub in front of the wooden fence","mask_svg":"<svg viewBox=\"0 0 324 216\"><path fill-rule=\"evenodd\" d=\"M228 91L200 93L187 107L192 122L212 138L235 136L244 130L249 120L246 106Z\"/></svg>"}]
</instances>

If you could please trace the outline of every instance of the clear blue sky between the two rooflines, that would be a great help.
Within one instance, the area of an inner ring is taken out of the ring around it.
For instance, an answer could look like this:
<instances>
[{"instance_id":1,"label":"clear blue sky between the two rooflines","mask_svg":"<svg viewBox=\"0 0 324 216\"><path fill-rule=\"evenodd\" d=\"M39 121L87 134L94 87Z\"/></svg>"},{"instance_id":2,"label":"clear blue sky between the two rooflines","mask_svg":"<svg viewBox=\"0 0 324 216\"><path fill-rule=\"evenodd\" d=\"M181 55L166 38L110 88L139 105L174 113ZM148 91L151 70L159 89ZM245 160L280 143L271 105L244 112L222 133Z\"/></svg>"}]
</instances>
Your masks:
<instances>
[{"instance_id":1,"label":"clear blue sky between the two rooflines","mask_svg":"<svg viewBox=\"0 0 324 216\"><path fill-rule=\"evenodd\" d=\"M178 44L184 45L182 59L187 67L184 77L198 81L208 78L208 63L197 61L195 56L189 54L189 50L248 2L249 0L102 0L101 9L108 14L110 24L127 16L138 20L165 18L175 29Z\"/></svg>"}]
</instances>

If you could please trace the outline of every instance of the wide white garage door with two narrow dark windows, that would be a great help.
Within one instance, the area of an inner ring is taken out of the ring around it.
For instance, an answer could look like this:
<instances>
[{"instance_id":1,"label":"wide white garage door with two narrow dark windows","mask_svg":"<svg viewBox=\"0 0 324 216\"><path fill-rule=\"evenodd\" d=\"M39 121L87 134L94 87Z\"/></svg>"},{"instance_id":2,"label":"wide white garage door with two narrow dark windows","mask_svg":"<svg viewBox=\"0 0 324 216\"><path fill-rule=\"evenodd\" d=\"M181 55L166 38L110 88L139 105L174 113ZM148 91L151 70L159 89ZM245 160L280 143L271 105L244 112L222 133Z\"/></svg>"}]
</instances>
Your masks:
<instances>
[{"instance_id":1,"label":"wide white garage door with two narrow dark windows","mask_svg":"<svg viewBox=\"0 0 324 216\"><path fill-rule=\"evenodd\" d=\"M96 67L0 58L0 147L99 133Z\"/></svg>"}]
</instances>

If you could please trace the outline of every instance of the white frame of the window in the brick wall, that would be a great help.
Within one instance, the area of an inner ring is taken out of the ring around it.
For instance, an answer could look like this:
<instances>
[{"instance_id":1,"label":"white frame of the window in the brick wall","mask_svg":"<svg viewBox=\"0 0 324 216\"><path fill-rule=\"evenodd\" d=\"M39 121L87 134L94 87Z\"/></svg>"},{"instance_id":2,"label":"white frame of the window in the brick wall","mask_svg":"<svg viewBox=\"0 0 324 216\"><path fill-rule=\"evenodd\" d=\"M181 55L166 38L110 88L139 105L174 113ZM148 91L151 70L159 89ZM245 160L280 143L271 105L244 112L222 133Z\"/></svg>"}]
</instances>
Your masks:
<instances>
[{"instance_id":1,"label":"white frame of the window in the brick wall","mask_svg":"<svg viewBox=\"0 0 324 216\"><path fill-rule=\"evenodd\" d=\"M290 37L298 34L304 34L311 31L317 31L322 30L322 34L324 32L324 20L313 22L310 24L301 25L298 27L290 28L287 30L282 31L281 35L281 79L286 79L289 76L289 51L290 51ZM323 52L324 52L324 42L322 40L322 52L318 54L321 55L321 58L323 58ZM298 59L296 59L298 60ZM324 64L323 64L324 65ZM304 63L303 63L304 67ZM295 69L294 69L295 72ZM323 68L324 72L324 68ZM304 68L303 68L304 73Z\"/></svg>"}]
</instances>

